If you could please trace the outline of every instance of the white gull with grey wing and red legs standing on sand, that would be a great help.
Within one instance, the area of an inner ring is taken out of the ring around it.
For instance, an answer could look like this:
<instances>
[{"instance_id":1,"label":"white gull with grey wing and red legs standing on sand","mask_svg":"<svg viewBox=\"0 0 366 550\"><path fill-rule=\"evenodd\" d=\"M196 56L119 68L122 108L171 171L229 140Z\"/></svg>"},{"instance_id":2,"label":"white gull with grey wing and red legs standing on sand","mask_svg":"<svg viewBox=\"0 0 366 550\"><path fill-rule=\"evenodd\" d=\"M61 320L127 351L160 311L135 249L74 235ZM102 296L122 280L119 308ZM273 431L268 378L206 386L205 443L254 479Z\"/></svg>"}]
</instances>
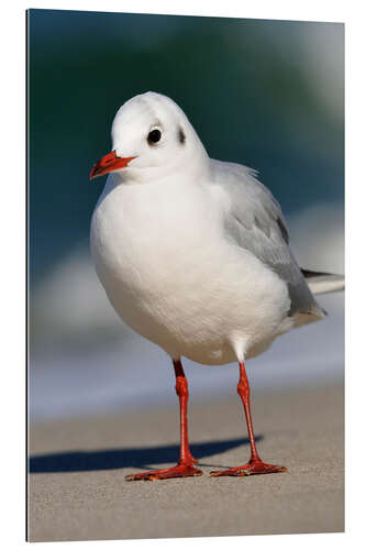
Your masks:
<instances>
[{"instance_id":1,"label":"white gull with grey wing and red legs standing on sand","mask_svg":"<svg viewBox=\"0 0 366 550\"><path fill-rule=\"evenodd\" d=\"M178 464L126 479L202 474L189 450L182 355L240 365L251 459L211 475L285 472L257 452L244 361L291 328L324 317L309 280L330 292L342 289L344 278L300 270L280 206L256 173L210 158L184 111L166 96L149 91L119 109L112 153L90 178L104 174L91 220L97 274L123 320L170 355L180 404Z\"/></svg>"}]
</instances>

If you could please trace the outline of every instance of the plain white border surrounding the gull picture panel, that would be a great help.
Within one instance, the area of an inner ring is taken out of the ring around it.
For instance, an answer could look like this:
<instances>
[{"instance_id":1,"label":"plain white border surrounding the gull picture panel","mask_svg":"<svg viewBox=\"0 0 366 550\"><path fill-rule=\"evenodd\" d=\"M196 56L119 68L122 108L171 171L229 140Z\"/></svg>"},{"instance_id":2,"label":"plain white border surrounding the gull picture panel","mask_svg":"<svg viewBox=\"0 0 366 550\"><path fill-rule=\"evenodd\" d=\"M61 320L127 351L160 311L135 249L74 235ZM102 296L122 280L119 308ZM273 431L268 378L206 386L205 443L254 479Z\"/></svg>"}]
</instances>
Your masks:
<instances>
[{"instance_id":1,"label":"plain white border surrounding the gull picture panel","mask_svg":"<svg viewBox=\"0 0 366 550\"><path fill-rule=\"evenodd\" d=\"M351 7L350 7L351 4ZM5 132L1 136L1 334L2 334L2 446L1 496L2 544L4 548L25 546L24 538L24 10L26 8L73 9L88 11L117 11L131 13L175 13L213 16L241 16L254 19L334 21L346 22L346 302L348 323L346 330L346 386L347 386L347 496L346 535L266 536L245 538L201 538L99 541L57 543L57 548L242 548L255 543L256 548L307 548L309 544L328 544L333 548L361 547L364 539L365 482L365 403L366 376L363 340L365 326L365 19L362 2L307 1L293 2L256 0L254 3L218 1L112 1L75 0L63 2L35 1L9 2L3 7L1 55L2 89L1 121ZM199 6L199 7L198 7ZM354 138L355 136L355 138ZM352 264L351 264L352 256ZM11 365L11 369L10 369ZM54 548L43 543L42 548Z\"/></svg>"}]
</instances>

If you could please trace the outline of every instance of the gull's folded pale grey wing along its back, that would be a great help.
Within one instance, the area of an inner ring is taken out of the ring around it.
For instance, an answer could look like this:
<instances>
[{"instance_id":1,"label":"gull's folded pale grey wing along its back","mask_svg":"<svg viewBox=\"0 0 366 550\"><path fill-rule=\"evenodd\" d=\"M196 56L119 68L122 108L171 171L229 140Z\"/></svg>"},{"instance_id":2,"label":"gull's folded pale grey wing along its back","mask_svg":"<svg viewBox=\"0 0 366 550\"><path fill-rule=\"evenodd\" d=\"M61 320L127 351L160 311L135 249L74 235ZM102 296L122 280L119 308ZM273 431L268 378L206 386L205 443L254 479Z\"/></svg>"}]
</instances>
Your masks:
<instances>
[{"instance_id":1,"label":"gull's folded pale grey wing along its back","mask_svg":"<svg viewBox=\"0 0 366 550\"><path fill-rule=\"evenodd\" d=\"M229 197L225 216L228 235L251 251L287 283L289 315L323 317L289 248L288 229L280 206L255 170L240 164L212 161L214 183Z\"/></svg>"}]
</instances>

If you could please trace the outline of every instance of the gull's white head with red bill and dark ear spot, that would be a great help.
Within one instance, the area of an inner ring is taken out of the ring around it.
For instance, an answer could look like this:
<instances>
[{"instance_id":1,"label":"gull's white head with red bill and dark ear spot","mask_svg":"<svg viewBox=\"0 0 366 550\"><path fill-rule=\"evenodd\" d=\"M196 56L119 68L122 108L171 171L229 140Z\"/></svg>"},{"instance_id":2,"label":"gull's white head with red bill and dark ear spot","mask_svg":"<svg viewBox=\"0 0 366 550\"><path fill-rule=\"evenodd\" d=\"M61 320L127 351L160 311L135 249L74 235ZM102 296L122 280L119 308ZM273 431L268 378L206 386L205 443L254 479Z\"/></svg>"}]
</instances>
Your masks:
<instances>
[{"instance_id":1,"label":"gull's white head with red bill and dark ear spot","mask_svg":"<svg viewBox=\"0 0 366 550\"><path fill-rule=\"evenodd\" d=\"M184 111L168 97L148 91L117 112L112 152L92 167L90 179L111 172L134 183L182 173L199 177L208 165L206 150Z\"/></svg>"}]
</instances>

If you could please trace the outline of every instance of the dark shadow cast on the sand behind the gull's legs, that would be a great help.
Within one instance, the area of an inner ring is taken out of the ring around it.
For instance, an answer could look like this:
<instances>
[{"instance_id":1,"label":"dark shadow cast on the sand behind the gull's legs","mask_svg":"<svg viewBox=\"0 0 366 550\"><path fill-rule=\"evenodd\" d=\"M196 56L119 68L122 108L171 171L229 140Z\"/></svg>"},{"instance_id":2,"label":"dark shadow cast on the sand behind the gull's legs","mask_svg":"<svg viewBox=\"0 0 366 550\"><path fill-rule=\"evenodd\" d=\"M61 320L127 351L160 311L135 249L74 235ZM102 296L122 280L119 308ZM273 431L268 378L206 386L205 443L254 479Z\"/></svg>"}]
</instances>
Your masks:
<instances>
[{"instance_id":1,"label":"dark shadow cast on the sand behind the gull's legs","mask_svg":"<svg viewBox=\"0 0 366 550\"><path fill-rule=\"evenodd\" d=\"M263 436L255 438L260 441ZM207 457L230 451L240 446L247 446L247 438L228 439L224 441L209 441L207 443L192 443L191 453L204 466L229 468L222 464L206 464L201 461ZM140 447L127 449L103 449L98 451L68 451L53 454L38 454L30 457L30 473L57 473L57 472L90 472L96 470L117 470L121 468L148 469L151 464L176 463L179 455L178 446ZM243 462L245 455L243 455Z\"/></svg>"}]
</instances>

